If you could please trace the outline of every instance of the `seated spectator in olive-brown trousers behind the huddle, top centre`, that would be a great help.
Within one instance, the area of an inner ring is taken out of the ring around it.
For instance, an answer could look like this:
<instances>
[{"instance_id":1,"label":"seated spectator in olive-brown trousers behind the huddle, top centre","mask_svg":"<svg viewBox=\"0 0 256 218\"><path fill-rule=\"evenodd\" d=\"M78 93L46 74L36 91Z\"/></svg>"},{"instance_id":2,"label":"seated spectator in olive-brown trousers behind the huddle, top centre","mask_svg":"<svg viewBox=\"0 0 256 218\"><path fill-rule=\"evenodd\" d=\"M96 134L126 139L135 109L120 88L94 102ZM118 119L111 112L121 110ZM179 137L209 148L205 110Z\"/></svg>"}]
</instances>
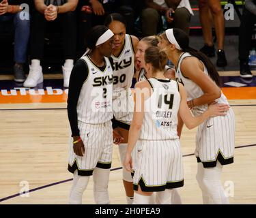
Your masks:
<instances>
[{"instance_id":1,"label":"seated spectator in olive-brown trousers behind the huddle, top centre","mask_svg":"<svg viewBox=\"0 0 256 218\"><path fill-rule=\"evenodd\" d=\"M143 36L156 35L162 30L162 16L167 28L179 28L189 33L190 18L193 15L188 0L145 0L141 12Z\"/></svg>"}]
</instances>

